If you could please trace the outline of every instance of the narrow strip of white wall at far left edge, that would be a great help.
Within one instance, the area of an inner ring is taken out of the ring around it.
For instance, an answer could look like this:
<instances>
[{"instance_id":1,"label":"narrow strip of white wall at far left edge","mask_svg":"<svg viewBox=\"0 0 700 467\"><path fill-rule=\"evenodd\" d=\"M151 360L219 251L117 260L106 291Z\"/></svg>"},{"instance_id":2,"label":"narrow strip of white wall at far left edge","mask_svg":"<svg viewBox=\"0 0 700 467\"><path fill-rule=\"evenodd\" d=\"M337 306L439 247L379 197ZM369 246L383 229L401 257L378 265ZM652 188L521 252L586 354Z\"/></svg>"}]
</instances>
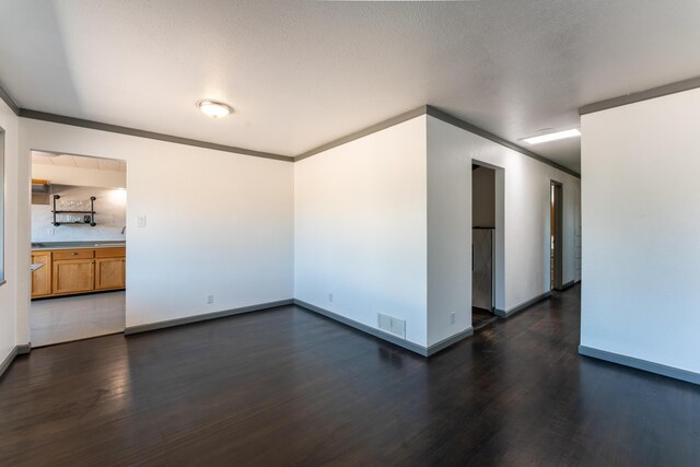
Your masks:
<instances>
[{"instance_id":1,"label":"narrow strip of white wall at far left edge","mask_svg":"<svg viewBox=\"0 0 700 467\"><path fill-rule=\"evenodd\" d=\"M0 285L0 362L10 354L18 343L15 315L18 308L18 142L20 138L19 119L4 102L0 101L0 127L4 133L4 279Z\"/></svg>"}]
</instances>

